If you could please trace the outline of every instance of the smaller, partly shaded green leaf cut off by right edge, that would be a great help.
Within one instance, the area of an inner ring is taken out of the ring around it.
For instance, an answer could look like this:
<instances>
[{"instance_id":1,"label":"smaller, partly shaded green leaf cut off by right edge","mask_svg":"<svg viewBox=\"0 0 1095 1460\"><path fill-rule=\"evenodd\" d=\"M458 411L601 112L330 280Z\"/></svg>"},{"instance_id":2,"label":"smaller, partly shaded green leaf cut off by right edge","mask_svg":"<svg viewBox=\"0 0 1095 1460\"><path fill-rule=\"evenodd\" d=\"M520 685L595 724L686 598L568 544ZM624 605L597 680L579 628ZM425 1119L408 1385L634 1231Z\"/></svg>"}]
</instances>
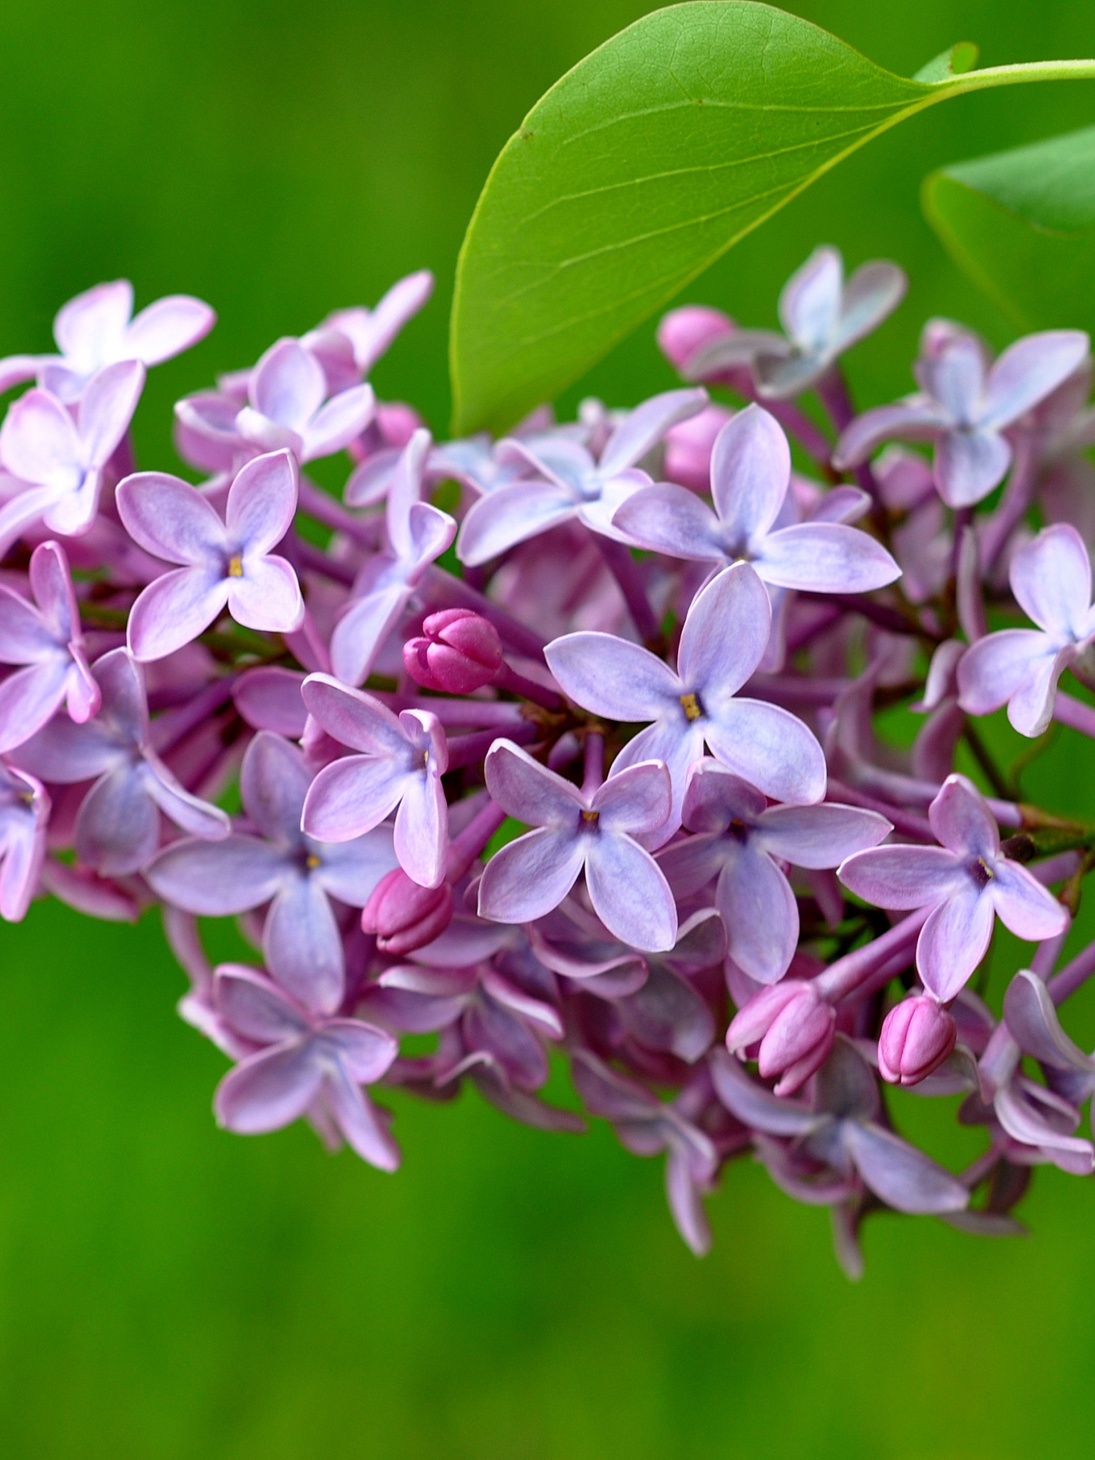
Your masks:
<instances>
[{"instance_id":1,"label":"smaller, partly shaded green leaf cut off by right edge","mask_svg":"<svg viewBox=\"0 0 1095 1460\"><path fill-rule=\"evenodd\" d=\"M1095 330L1095 127L924 180L955 261L1023 330Z\"/></svg>"}]
</instances>

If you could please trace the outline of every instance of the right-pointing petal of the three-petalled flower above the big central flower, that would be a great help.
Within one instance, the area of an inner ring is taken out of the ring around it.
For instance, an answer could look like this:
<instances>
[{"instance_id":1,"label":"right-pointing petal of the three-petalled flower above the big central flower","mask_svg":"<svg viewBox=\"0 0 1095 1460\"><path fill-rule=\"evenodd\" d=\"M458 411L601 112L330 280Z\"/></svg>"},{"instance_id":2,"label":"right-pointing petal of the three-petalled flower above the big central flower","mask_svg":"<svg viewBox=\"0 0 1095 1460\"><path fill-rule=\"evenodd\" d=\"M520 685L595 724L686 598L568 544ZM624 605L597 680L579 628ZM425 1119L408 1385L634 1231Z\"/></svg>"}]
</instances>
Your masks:
<instances>
[{"instance_id":1,"label":"right-pointing petal of the three-petalled flower above the big central flower","mask_svg":"<svg viewBox=\"0 0 1095 1460\"><path fill-rule=\"evenodd\" d=\"M769 533L753 565L765 583L813 593L870 593L901 577L880 542L842 523L797 523Z\"/></svg>"}]
</instances>

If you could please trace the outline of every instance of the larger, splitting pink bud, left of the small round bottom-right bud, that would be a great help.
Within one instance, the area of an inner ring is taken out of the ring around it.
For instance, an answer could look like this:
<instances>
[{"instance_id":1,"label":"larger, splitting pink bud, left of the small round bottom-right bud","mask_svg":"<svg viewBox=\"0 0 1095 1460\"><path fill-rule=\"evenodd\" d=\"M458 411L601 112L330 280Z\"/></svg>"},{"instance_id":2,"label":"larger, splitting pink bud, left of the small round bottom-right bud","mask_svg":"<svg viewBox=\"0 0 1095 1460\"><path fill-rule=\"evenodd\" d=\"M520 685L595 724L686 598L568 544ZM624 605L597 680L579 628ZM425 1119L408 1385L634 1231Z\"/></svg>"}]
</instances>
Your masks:
<instances>
[{"instance_id":1,"label":"larger, splitting pink bud, left of the small round bottom-right bud","mask_svg":"<svg viewBox=\"0 0 1095 1460\"><path fill-rule=\"evenodd\" d=\"M791 1095L819 1069L832 1048L837 1013L800 978L762 990L733 1018L726 1034L731 1054L761 1041L761 1075L780 1076L777 1095Z\"/></svg>"}]
</instances>

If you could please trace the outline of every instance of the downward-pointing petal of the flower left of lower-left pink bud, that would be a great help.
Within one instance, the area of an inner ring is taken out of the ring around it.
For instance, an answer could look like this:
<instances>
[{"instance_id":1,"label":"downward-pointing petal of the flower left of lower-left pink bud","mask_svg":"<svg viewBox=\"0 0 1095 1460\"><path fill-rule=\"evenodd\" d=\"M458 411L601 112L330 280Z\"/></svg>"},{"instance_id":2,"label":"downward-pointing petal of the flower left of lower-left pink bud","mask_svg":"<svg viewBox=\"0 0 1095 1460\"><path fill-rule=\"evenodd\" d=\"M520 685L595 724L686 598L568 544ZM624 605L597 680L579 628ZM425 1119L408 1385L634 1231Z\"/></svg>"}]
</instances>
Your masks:
<instances>
[{"instance_id":1,"label":"downward-pointing petal of the flower left of lower-left pink bud","mask_svg":"<svg viewBox=\"0 0 1095 1460\"><path fill-rule=\"evenodd\" d=\"M273 978L307 1009L333 1013L342 1003L342 933L327 894L310 876L289 876L270 905L263 953Z\"/></svg>"}]
</instances>

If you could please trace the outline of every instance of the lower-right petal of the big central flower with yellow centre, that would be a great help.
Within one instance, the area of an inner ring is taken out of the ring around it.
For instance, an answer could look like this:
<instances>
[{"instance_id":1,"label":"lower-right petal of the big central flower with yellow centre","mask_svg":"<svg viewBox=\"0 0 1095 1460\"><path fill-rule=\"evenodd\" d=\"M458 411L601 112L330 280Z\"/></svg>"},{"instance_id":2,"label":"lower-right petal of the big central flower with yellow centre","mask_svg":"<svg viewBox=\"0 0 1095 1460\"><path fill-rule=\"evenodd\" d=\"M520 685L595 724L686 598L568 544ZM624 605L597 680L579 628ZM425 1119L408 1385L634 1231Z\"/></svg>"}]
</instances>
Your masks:
<instances>
[{"instance_id":1,"label":"lower-right petal of the big central flower with yellow centre","mask_svg":"<svg viewBox=\"0 0 1095 1460\"><path fill-rule=\"evenodd\" d=\"M825 753L781 705L730 699L704 721L704 739L723 765L772 800L809 804L825 796Z\"/></svg>"}]
</instances>

